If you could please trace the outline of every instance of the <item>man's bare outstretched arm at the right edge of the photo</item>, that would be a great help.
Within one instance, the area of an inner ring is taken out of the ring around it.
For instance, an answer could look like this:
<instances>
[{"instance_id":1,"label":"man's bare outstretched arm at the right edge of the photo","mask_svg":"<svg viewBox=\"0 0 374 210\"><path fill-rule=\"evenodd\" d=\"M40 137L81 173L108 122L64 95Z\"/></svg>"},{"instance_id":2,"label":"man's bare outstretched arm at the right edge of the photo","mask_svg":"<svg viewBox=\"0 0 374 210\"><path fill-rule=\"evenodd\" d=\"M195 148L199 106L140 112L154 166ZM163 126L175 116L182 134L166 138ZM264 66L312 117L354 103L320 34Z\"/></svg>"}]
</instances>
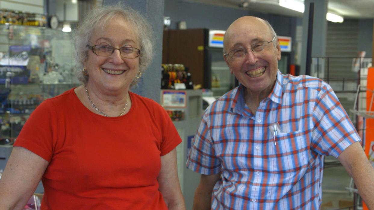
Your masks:
<instances>
[{"instance_id":1,"label":"man's bare outstretched arm at the right edge of the photo","mask_svg":"<svg viewBox=\"0 0 374 210\"><path fill-rule=\"evenodd\" d=\"M374 209L374 169L367 159L361 144L355 142L347 147L338 157L347 170L369 209Z\"/></svg>"}]
</instances>

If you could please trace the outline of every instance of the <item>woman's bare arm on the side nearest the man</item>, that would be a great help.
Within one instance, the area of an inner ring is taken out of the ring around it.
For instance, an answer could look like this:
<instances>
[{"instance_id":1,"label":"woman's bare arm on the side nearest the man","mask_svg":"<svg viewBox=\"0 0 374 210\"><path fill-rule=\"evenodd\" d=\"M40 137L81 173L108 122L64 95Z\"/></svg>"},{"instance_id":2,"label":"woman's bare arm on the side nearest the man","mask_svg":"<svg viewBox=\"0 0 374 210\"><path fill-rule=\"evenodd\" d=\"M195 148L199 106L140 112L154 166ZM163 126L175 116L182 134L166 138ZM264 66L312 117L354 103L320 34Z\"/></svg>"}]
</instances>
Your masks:
<instances>
[{"instance_id":1,"label":"woman's bare arm on the side nearest the man","mask_svg":"<svg viewBox=\"0 0 374 210\"><path fill-rule=\"evenodd\" d=\"M168 205L169 210L185 210L184 198L178 179L177 152L175 148L161 156L161 170L157 177L159 191Z\"/></svg>"}]
</instances>

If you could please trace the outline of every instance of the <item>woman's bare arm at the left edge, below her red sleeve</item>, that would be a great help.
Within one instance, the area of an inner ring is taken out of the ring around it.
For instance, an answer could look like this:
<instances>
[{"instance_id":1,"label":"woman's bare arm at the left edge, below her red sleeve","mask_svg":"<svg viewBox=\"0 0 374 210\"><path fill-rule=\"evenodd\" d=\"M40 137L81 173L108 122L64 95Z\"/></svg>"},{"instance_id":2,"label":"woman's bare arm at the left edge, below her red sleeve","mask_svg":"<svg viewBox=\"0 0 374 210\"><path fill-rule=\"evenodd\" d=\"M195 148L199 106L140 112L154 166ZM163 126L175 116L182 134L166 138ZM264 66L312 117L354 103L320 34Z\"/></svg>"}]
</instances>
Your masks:
<instances>
[{"instance_id":1,"label":"woman's bare arm at the left edge, below her red sleeve","mask_svg":"<svg viewBox=\"0 0 374 210\"><path fill-rule=\"evenodd\" d=\"M48 162L23 147L14 147L0 179L0 209L23 209Z\"/></svg>"}]
</instances>

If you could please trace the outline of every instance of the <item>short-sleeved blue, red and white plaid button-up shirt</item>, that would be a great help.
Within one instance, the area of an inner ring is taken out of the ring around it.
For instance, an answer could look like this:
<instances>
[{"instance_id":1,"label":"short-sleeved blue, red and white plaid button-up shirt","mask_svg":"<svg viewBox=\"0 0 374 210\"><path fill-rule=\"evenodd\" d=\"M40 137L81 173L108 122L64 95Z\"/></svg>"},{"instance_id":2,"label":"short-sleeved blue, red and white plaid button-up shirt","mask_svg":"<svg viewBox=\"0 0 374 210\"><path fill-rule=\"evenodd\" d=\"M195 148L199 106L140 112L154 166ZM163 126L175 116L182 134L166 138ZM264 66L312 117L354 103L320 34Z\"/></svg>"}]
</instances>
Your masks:
<instances>
[{"instance_id":1,"label":"short-sleeved blue, red and white plaid button-up shirt","mask_svg":"<svg viewBox=\"0 0 374 210\"><path fill-rule=\"evenodd\" d=\"M212 209L319 209L324 155L360 141L335 93L318 78L278 70L253 114L243 88L206 109L187 160L195 172L221 172Z\"/></svg>"}]
</instances>

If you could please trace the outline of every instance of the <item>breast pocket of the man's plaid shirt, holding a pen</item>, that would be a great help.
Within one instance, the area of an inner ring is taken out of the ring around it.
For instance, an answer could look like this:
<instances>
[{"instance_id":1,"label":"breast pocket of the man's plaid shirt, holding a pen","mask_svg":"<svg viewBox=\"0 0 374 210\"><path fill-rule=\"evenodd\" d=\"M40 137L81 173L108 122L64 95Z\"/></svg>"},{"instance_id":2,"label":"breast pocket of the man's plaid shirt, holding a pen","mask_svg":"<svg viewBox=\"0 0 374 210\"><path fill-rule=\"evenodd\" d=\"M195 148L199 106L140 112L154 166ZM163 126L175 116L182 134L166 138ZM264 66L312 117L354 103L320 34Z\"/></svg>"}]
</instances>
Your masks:
<instances>
[{"instance_id":1,"label":"breast pocket of the man's plaid shirt, holding a pen","mask_svg":"<svg viewBox=\"0 0 374 210\"><path fill-rule=\"evenodd\" d=\"M277 173L303 173L309 162L309 143L304 132L281 133L275 136L273 169Z\"/></svg>"}]
</instances>

